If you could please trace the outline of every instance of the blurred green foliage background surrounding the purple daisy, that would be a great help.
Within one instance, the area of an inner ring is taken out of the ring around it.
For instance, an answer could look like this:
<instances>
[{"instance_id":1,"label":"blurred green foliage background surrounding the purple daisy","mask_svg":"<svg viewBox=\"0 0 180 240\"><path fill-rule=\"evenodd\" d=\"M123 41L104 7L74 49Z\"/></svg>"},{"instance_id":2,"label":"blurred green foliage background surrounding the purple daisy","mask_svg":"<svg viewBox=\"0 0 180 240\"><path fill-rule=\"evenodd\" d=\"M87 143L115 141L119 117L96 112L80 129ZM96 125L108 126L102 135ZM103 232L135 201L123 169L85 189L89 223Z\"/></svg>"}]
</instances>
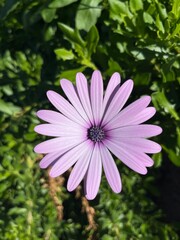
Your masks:
<instances>
[{"instance_id":1,"label":"blurred green foliage background surrounding the purple daisy","mask_svg":"<svg viewBox=\"0 0 180 240\"><path fill-rule=\"evenodd\" d=\"M0 239L180 239L179 0L0 1ZM132 78L129 102L151 95L162 153L140 176L117 159L123 191L105 177L93 201L39 169L35 112L59 79L102 71Z\"/></svg>"}]
</instances>

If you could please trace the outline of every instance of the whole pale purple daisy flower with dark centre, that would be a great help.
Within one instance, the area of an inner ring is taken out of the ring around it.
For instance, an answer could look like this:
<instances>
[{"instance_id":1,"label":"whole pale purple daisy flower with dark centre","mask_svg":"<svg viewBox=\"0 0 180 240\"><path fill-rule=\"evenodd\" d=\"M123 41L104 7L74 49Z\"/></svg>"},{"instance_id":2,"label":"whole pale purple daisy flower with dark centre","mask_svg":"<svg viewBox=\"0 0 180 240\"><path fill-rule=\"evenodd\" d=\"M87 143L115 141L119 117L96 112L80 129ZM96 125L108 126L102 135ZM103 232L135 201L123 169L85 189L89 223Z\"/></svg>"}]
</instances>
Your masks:
<instances>
[{"instance_id":1,"label":"whole pale purple daisy flower with dark centre","mask_svg":"<svg viewBox=\"0 0 180 240\"><path fill-rule=\"evenodd\" d=\"M35 131L55 137L35 147L35 152L46 154L40 167L51 166L50 176L57 177L75 164L67 189L73 191L84 179L89 200L98 193L102 167L112 190L119 193L122 189L111 153L135 172L146 174L146 167L153 165L147 153L161 151L159 144L146 138L160 134L162 129L142 124L156 112L154 107L148 107L151 98L143 96L123 109L133 81L127 80L120 86L118 73L112 75L105 93L97 70L92 74L90 87L82 73L76 75L76 86L66 79L60 84L69 101L48 91L49 101L59 112L37 112L37 116L48 123L36 126Z\"/></svg>"}]
</instances>

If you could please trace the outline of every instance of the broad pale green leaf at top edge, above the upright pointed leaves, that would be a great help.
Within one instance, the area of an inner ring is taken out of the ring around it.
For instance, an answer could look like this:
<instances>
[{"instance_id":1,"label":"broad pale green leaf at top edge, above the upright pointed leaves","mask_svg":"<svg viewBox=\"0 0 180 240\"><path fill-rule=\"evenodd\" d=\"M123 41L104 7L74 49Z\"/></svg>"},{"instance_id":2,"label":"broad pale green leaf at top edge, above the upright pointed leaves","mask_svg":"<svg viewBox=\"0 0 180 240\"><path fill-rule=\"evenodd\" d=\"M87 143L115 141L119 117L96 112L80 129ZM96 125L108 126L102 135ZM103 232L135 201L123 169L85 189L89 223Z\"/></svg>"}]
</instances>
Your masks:
<instances>
[{"instance_id":1,"label":"broad pale green leaf at top edge, above the upright pointed leaves","mask_svg":"<svg viewBox=\"0 0 180 240\"><path fill-rule=\"evenodd\" d=\"M75 22L77 29L89 31L96 24L101 15L102 7L99 3L102 0L82 0L79 4Z\"/></svg>"}]
</instances>

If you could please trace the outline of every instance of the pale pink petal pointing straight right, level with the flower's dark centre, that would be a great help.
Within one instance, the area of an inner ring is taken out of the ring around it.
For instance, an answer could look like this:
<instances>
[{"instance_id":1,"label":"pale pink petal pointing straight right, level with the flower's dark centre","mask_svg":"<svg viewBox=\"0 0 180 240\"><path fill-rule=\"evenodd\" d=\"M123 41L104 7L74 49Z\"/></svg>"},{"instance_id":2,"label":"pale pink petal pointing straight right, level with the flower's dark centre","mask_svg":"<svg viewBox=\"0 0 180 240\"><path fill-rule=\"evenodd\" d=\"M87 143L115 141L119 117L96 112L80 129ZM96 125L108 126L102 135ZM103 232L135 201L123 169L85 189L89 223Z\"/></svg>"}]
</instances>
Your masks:
<instances>
[{"instance_id":1,"label":"pale pink petal pointing straight right, level with the flower's dark centre","mask_svg":"<svg viewBox=\"0 0 180 240\"><path fill-rule=\"evenodd\" d=\"M135 126L127 126L121 128L115 128L106 132L108 137L119 138L121 141L122 137L128 138L149 138L157 136L162 132L162 128L156 125L142 124Z\"/></svg>"}]
</instances>

